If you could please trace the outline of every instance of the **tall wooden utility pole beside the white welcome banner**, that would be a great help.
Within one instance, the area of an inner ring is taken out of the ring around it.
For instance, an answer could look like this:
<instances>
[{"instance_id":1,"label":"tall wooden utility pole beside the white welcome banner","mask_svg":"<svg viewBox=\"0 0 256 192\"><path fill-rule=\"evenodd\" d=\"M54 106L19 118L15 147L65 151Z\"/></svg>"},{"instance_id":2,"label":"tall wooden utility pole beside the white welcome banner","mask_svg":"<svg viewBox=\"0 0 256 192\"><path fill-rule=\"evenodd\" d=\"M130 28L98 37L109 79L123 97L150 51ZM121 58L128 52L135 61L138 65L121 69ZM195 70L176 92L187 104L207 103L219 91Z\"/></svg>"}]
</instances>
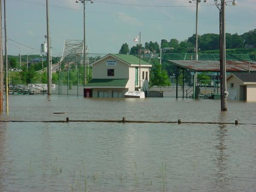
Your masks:
<instances>
[{"instance_id":1,"label":"tall wooden utility pole beside the white welcome banner","mask_svg":"<svg viewBox=\"0 0 256 192\"><path fill-rule=\"evenodd\" d=\"M50 45L50 29L49 29L49 2L46 0L46 23L47 23L47 95L51 95L52 92L52 80L51 80L51 45Z\"/></svg>"}]
</instances>

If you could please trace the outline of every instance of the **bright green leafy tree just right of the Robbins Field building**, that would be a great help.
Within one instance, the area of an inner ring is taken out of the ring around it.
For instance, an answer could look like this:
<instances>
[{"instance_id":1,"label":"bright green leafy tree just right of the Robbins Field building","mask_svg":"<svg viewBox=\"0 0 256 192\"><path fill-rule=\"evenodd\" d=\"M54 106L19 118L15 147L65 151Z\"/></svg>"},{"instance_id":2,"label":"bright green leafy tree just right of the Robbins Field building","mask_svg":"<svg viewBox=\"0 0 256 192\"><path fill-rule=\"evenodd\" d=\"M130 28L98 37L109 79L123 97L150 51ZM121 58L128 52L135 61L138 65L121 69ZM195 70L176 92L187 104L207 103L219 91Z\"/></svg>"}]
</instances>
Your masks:
<instances>
[{"instance_id":1,"label":"bright green leafy tree just right of the Robbins Field building","mask_svg":"<svg viewBox=\"0 0 256 192\"><path fill-rule=\"evenodd\" d=\"M161 87L169 86L169 76L166 70L161 69L160 64L154 64L150 71L150 86L156 85L161 90Z\"/></svg>"}]
</instances>

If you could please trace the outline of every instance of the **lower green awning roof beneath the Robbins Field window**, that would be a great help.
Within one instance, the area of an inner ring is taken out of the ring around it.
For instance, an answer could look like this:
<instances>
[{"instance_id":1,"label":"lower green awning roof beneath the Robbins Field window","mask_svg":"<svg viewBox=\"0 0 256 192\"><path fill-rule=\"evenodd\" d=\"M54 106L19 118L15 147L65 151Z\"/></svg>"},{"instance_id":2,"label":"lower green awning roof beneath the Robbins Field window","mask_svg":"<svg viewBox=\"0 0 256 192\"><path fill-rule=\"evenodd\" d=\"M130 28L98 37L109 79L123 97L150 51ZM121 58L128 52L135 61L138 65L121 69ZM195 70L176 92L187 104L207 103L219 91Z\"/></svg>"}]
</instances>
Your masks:
<instances>
[{"instance_id":1,"label":"lower green awning roof beneath the Robbins Field window","mask_svg":"<svg viewBox=\"0 0 256 192\"><path fill-rule=\"evenodd\" d=\"M125 87L128 79L92 79L85 87Z\"/></svg>"}]
</instances>

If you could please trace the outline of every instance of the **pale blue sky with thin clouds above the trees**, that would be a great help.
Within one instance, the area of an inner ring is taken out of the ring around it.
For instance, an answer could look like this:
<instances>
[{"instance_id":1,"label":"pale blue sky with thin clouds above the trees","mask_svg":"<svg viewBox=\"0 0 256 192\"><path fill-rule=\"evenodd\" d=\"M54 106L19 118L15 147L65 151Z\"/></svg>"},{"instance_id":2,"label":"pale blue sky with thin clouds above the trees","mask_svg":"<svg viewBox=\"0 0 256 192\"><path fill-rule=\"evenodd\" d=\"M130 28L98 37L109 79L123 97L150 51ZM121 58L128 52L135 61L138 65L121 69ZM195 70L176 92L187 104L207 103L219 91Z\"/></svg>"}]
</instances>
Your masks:
<instances>
[{"instance_id":1,"label":"pale blue sky with thin clouds above the trees","mask_svg":"<svg viewBox=\"0 0 256 192\"><path fill-rule=\"evenodd\" d=\"M237 6L226 6L226 32L241 35L256 29L256 0L237 2ZM140 32L143 45L149 41L160 44L161 39L184 41L195 33L195 13L195 3L189 0L88 2L88 52L118 53L123 43L130 48L135 46L133 39ZM6 0L6 21L9 55L18 55L20 50L21 55L40 54L38 50L47 33L46 0ZM219 10L214 0L202 0L198 8L198 34L218 34L218 22ZM83 40L83 4L75 0L49 0L49 29L52 53L62 55L65 40Z\"/></svg>"}]
</instances>

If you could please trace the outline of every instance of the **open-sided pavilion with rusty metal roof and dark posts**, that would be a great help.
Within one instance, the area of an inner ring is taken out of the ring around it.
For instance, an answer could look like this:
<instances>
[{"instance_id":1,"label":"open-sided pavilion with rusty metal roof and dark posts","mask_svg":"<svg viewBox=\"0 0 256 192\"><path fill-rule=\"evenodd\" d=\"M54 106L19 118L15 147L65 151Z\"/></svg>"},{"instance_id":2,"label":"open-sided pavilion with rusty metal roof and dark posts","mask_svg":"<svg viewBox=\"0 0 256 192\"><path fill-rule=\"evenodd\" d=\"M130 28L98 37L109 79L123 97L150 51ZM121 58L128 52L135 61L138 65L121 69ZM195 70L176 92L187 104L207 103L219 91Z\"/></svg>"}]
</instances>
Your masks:
<instances>
[{"instance_id":1,"label":"open-sided pavilion with rusty metal roof and dark posts","mask_svg":"<svg viewBox=\"0 0 256 192\"><path fill-rule=\"evenodd\" d=\"M170 64L176 65L176 82L178 77L183 73L183 97L184 97L184 70L194 72L194 93L197 79L197 72L216 72L220 73L220 61L207 60L167 60ZM255 61L226 61L226 71L236 73L256 73ZM217 75L218 76L218 75ZM176 98L178 97L178 84L176 83ZM195 94L194 94L195 95Z\"/></svg>"}]
</instances>

